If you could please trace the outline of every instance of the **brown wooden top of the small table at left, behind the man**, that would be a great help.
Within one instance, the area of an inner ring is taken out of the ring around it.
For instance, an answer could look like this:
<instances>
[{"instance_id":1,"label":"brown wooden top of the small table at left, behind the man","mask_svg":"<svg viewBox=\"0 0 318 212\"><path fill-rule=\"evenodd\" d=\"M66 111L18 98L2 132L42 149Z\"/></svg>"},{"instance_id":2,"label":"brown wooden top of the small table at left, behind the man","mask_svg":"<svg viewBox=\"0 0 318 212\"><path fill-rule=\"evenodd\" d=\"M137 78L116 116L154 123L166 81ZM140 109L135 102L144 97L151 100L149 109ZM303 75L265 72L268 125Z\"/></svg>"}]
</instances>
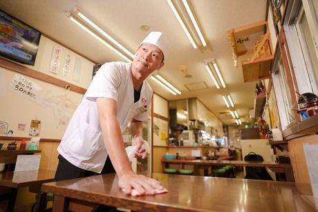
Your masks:
<instances>
[{"instance_id":1,"label":"brown wooden top of the small table at left, behind the man","mask_svg":"<svg viewBox=\"0 0 318 212\"><path fill-rule=\"evenodd\" d=\"M0 173L0 186L20 188L35 183L52 182L55 171L39 169L36 171L7 171Z\"/></svg>"}]
</instances>

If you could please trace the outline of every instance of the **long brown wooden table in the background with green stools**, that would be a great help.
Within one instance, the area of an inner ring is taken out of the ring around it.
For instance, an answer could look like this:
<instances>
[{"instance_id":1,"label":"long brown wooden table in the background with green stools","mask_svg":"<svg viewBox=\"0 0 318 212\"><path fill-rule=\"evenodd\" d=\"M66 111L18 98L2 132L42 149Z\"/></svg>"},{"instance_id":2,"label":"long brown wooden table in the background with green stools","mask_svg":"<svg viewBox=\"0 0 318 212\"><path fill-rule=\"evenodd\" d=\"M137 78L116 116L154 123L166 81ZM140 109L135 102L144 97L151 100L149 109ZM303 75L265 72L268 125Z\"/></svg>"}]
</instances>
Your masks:
<instances>
[{"instance_id":1,"label":"long brown wooden table in the background with green stools","mask_svg":"<svg viewBox=\"0 0 318 212\"><path fill-rule=\"evenodd\" d=\"M180 164L180 168L183 168L185 164L194 166L194 175L200 175L200 168L206 168L208 166L256 166L256 167L268 167L271 171L277 173L285 173L286 180L294 182L294 175L292 173L291 164L282 164L276 162L249 162L243 160L161 160L165 168L169 168L169 164Z\"/></svg>"}]
</instances>

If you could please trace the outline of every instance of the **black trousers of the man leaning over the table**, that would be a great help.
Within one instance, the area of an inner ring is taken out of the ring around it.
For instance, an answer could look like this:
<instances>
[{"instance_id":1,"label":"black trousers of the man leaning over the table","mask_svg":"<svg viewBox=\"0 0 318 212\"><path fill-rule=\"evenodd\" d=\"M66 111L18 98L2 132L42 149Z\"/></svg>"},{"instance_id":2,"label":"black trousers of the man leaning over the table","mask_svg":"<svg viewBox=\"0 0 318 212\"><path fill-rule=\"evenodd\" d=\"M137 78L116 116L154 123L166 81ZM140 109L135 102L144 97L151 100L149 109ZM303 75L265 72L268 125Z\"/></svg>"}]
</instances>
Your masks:
<instances>
[{"instance_id":1,"label":"black trousers of the man leaning over the table","mask_svg":"<svg viewBox=\"0 0 318 212\"><path fill-rule=\"evenodd\" d=\"M115 169L113 168L113 164L111 164L111 159L109 157L107 157L101 173L95 173L93 171L87 171L82 168L78 168L77 166L74 166L73 164L68 162L68 160L62 157L62 155L59 155L58 158L59 164L57 165L57 171L55 173L56 181L69 180L79 177L89 177L93 175L102 175L106 173L115 173ZM95 212L100 211L113 212L117 210L112 206L100 205L97 207L97 209L95 209Z\"/></svg>"}]
</instances>

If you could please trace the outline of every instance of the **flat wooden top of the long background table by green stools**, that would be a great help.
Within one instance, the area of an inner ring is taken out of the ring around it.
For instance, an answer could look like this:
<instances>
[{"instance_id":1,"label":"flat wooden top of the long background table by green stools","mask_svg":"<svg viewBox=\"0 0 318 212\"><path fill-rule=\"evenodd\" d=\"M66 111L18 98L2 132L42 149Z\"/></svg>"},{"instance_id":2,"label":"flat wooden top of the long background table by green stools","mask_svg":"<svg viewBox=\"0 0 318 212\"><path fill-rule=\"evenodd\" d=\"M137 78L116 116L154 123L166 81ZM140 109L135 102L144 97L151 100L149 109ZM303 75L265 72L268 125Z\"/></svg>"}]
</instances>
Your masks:
<instances>
[{"instance_id":1,"label":"flat wooden top of the long background table by green stools","mask_svg":"<svg viewBox=\"0 0 318 212\"><path fill-rule=\"evenodd\" d=\"M193 165L221 165L221 166L271 166L277 168L291 167L291 164L279 164L270 161L263 162L248 162L243 160L165 160L162 159L161 162L164 163L184 163Z\"/></svg>"}]
</instances>

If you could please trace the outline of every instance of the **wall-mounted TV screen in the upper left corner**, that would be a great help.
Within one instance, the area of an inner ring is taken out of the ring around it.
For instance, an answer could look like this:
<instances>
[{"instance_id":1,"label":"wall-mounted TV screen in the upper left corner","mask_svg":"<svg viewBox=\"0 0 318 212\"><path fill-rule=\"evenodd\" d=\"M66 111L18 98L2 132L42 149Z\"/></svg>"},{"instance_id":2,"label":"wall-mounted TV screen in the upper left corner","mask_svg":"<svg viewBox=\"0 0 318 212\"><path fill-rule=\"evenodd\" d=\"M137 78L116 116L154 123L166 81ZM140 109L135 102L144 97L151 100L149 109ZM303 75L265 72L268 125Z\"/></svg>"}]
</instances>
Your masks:
<instances>
[{"instance_id":1,"label":"wall-mounted TV screen in the upper left corner","mask_svg":"<svg viewBox=\"0 0 318 212\"><path fill-rule=\"evenodd\" d=\"M41 32L0 10L0 56L34 65Z\"/></svg>"}]
</instances>

